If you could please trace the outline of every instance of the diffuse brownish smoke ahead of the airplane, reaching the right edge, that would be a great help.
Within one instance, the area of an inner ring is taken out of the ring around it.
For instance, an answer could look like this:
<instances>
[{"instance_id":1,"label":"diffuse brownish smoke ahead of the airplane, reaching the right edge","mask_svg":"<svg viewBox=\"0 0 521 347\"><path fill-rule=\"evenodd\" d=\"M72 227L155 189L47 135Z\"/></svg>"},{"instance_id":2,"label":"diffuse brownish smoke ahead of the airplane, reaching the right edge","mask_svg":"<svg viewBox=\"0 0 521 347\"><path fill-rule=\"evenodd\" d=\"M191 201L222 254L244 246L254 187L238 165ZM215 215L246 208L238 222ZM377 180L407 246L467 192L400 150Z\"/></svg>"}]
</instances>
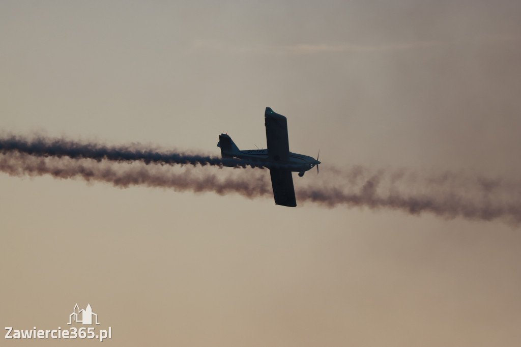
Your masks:
<instances>
[{"instance_id":1,"label":"diffuse brownish smoke ahead of the airplane, reaching the right edge","mask_svg":"<svg viewBox=\"0 0 521 347\"><path fill-rule=\"evenodd\" d=\"M412 215L427 212L444 218L504 219L514 225L521 222L521 182L453 172L419 175L404 170L371 171L363 167L332 171L336 172L326 181L298 189L297 201L328 207L345 204L391 208Z\"/></svg>"}]
</instances>

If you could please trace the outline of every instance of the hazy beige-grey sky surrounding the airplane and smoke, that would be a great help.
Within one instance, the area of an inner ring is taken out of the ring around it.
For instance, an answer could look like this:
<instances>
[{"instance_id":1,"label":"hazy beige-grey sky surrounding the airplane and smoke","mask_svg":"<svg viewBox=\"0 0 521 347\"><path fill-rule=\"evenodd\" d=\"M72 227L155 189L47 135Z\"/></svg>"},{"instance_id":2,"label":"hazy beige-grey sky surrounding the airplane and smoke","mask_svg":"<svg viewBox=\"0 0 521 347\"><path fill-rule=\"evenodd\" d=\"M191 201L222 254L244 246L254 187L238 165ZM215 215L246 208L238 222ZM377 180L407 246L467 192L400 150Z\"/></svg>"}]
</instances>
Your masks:
<instances>
[{"instance_id":1,"label":"hazy beige-grey sky surrounding the airplane and smoke","mask_svg":"<svg viewBox=\"0 0 521 347\"><path fill-rule=\"evenodd\" d=\"M361 165L521 199L520 18L515 1L2 1L0 135L219 155L221 132L265 148L269 106L292 152L320 149L297 191ZM67 329L90 303L121 346L521 343L503 220L5 173L0 193L4 327Z\"/></svg>"}]
</instances>

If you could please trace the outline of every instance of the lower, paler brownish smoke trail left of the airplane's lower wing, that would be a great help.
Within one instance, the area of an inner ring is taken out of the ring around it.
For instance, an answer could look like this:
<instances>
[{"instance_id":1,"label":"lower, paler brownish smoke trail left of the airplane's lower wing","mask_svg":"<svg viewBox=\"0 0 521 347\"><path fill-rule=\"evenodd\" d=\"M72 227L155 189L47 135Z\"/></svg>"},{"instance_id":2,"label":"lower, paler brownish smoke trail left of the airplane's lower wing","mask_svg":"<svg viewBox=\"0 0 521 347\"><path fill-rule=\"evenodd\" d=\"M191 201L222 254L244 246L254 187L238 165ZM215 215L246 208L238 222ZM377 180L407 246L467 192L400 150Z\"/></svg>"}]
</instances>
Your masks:
<instances>
[{"instance_id":1,"label":"lower, paler brownish smoke trail left of the airplane's lower wing","mask_svg":"<svg viewBox=\"0 0 521 347\"><path fill-rule=\"evenodd\" d=\"M250 170L253 171L253 169L247 169L247 171ZM119 165L110 162L100 163L90 159L38 157L19 152L0 155L0 171L16 177L51 175L61 179L80 178L88 182L107 182L119 188L144 185L145 187L170 188L175 191L211 191L219 195L238 193L250 199L271 194L270 183L266 180L266 175L255 173L240 175L240 177L229 175L219 178L215 171L201 173L197 168L191 167L185 168L182 172L176 172L160 165L143 163Z\"/></svg>"}]
</instances>

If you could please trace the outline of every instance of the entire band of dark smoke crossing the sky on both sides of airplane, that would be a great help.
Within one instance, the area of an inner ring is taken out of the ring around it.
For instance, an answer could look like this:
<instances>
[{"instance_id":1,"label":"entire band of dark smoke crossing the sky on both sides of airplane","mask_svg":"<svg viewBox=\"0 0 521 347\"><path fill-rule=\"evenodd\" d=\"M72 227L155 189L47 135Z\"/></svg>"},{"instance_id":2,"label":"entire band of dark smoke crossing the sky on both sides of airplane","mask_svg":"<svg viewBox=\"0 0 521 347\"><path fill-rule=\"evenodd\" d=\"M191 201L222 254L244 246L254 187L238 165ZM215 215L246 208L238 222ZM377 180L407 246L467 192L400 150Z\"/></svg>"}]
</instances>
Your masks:
<instances>
[{"instance_id":1,"label":"entire band of dark smoke crossing the sky on both sides of airplane","mask_svg":"<svg viewBox=\"0 0 521 347\"><path fill-rule=\"evenodd\" d=\"M173 167L176 164L191 165ZM107 147L43 138L0 139L0 171L10 176L51 175L120 188L143 185L271 198L268 170L220 167L220 158L157 152L139 145ZM295 179L294 184L299 204L388 208L411 215L499 219L514 225L521 222L521 182L454 172L432 174L362 166L341 170L324 165L319 176Z\"/></svg>"}]
</instances>

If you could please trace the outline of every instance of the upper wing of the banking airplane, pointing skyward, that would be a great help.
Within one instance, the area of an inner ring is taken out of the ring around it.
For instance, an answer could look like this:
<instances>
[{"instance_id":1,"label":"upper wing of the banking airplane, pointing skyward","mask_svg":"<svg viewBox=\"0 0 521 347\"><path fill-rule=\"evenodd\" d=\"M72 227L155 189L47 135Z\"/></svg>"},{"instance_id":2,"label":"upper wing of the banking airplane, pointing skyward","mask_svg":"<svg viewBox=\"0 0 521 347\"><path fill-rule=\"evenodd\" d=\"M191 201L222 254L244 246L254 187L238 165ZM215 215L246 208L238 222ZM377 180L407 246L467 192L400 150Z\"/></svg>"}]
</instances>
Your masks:
<instances>
[{"instance_id":1,"label":"upper wing of the banking airplane, pointing skyward","mask_svg":"<svg viewBox=\"0 0 521 347\"><path fill-rule=\"evenodd\" d=\"M264 121L266 125L268 159L274 162L289 163L290 145L288 141L288 122L286 117L266 107Z\"/></svg>"}]
</instances>

